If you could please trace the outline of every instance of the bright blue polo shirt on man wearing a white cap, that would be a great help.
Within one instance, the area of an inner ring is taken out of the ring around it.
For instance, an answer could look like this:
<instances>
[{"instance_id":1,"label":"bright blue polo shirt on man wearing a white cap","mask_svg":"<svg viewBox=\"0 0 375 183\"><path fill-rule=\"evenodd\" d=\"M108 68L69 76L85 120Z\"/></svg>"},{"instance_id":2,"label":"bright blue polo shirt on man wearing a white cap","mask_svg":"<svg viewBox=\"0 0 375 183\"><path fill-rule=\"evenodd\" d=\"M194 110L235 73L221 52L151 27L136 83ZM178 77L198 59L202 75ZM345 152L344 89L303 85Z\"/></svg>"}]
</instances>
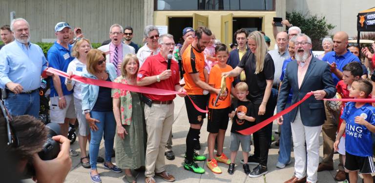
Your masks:
<instances>
[{"instance_id":1,"label":"bright blue polo shirt on man wearing a white cap","mask_svg":"<svg viewBox=\"0 0 375 183\"><path fill-rule=\"evenodd\" d=\"M53 67L55 69L66 72L70 61L74 60L74 57L70 56L70 51L72 49L72 46L68 44L68 48L69 49L64 48L62 45L60 45L59 43L55 41L55 43L51 46L51 48L49 48L47 52L47 60L49 62L49 67ZM64 84L65 78L60 76L60 81L61 81L61 88L62 88L63 95L72 94L73 90L68 91L68 89L66 89L66 85ZM51 94L49 96L50 97L59 96L53 85L53 80L51 80Z\"/></svg>"}]
</instances>

